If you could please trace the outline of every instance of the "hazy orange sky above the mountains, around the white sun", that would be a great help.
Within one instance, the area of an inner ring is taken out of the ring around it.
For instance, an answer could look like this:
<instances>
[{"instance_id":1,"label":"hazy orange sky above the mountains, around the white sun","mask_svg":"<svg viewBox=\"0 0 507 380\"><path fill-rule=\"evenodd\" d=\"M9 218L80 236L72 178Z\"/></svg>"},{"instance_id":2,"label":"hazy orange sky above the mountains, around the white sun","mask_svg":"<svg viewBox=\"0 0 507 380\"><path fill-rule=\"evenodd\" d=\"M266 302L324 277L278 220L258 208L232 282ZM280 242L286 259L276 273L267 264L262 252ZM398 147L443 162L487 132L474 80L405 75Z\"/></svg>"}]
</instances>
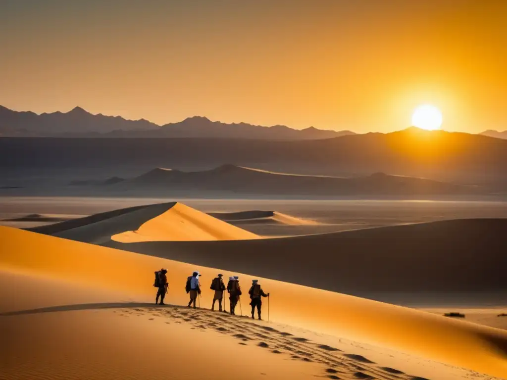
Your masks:
<instances>
[{"instance_id":1,"label":"hazy orange sky above the mountains, around the white sun","mask_svg":"<svg viewBox=\"0 0 507 380\"><path fill-rule=\"evenodd\" d=\"M504 0L0 0L0 104L387 132L507 129Z\"/></svg>"}]
</instances>

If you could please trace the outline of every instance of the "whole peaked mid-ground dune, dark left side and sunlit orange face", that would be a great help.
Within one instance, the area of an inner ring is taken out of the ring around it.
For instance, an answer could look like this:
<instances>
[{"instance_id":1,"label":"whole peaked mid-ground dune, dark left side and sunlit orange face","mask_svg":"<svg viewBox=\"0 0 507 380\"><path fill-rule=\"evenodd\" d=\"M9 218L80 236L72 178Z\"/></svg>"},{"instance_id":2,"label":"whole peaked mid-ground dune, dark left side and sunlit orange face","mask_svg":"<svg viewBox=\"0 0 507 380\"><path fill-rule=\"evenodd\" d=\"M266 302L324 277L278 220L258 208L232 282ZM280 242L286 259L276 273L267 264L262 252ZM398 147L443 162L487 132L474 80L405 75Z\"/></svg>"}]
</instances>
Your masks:
<instances>
[{"instance_id":1,"label":"whole peaked mid-ground dune, dark left side and sunlit orange face","mask_svg":"<svg viewBox=\"0 0 507 380\"><path fill-rule=\"evenodd\" d=\"M93 244L105 244L111 239L128 243L259 238L176 202L131 207L52 226L35 227L31 231Z\"/></svg>"}]
</instances>

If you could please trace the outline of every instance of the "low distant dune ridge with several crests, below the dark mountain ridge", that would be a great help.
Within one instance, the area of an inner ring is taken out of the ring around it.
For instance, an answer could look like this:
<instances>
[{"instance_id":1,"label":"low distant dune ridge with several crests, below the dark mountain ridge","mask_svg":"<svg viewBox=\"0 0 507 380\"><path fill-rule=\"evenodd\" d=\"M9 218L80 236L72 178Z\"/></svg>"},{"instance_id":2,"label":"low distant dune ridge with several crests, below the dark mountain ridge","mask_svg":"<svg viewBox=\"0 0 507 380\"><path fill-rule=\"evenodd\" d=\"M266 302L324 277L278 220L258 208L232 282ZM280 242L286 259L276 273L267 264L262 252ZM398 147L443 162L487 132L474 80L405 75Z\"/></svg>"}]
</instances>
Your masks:
<instances>
[{"instance_id":1,"label":"low distant dune ridge with several crests, below the dark mountain ridge","mask_svg":"<svg viewBox=\"0 0 507 380\"><path fill-rule=\"evenodd\" d=\"M235 165L211 170L183 172L156 168L119 183L118 189L154 191L220 191L249 195L448 195L476 194L476 186L456 185L424 178L376 173L366 177L343 178L318 175L277 173Z\"/></svg>"}]
</instances>

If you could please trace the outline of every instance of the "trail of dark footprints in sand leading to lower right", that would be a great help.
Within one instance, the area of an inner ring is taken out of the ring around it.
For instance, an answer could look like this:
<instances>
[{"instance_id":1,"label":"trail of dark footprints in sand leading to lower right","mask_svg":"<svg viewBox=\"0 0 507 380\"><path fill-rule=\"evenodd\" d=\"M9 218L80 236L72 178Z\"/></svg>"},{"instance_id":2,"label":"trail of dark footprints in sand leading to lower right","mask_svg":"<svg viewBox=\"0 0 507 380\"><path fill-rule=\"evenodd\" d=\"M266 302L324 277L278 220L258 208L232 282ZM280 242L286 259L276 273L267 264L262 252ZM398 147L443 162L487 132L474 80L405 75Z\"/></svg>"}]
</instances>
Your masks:
<instances>
[{"instance_id":1,"label":"trail of dark footprints in sand leading to lower right","mask_svg":"<svg viewBox=\"0 0 507 380\"><path fill-rule=\"evenodd\" d=\"M116 311L114 313L117 313ZM165 323L189 323L192 329L212 329L228 334L239 340L240 345L256 345L270 350L274 355L286 355L291 360L317 362L323 365L322 373L316 377L331 379L388 379L428 380L412 376L395 368L383 367L355 354L349 354L334 347L314 343L309 339L250 322L250 319L230 314L211 312L205 309L167 306L164 308L121 309L119 316L170 318Z\"/></svg>"}]
</instances>

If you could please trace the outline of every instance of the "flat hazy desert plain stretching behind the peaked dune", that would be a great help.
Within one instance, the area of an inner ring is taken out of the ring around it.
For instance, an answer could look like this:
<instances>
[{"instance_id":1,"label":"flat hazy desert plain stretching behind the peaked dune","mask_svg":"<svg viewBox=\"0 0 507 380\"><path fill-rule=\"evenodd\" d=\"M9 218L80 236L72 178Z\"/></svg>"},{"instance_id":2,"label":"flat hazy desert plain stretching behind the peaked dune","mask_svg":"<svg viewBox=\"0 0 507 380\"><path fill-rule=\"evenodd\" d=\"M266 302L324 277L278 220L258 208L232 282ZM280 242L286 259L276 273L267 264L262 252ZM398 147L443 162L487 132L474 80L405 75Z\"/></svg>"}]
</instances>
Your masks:
<instances>
[{"instance_id":1,"label":"flat hazy desert plain stretching behind the peaked dune","mask_svg":"<svg viewBox=\"0 0 507 380\"><path fill-rule=\"evenodd\" d=\"M95 198L86 197L0 197L0 224L18 228L34 227L37 222L9 222L5 219L27 214L71 214L87 216L119 209L167 203L167 198ZM287 225L281 223L237 224L244 230L262 236L294 236L330 233L406 223L421 223L446 219L507 217L506 202L452 201L290 201L188 199L178 201L206 213L237 213L249 210L272 210L317 225ZM228 221L236 224L234 221ZM39 223L42 224L42 223Z\"/></svg>"}]
</instances>

